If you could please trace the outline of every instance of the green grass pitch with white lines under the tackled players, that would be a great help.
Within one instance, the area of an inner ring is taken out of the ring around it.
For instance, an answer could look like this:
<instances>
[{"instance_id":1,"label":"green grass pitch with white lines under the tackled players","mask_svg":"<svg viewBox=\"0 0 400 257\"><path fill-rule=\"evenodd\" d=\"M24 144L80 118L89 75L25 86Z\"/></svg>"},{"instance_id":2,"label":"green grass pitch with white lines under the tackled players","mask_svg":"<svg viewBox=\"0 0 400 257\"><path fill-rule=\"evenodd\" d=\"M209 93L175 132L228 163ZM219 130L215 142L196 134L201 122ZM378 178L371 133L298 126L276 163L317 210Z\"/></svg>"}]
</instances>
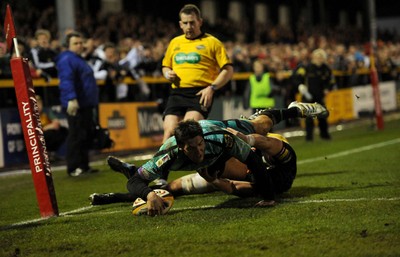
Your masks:
<instances>
[{"instance_id":1,"label":"green grass pitch with white lines under the tackled players","mask_svg":"<svg viewBox=\"0 0 400 257\"><path fill-rule=\"evenodd\" d=\"M0 176L0 256L399 256L399 131L395 120L332 141L290 139L298 176L274 208L223 193L177 198L153 218L132 216L129 203L89 207L93 192L126 190L123 176L101 165L78 178L54 172L61 215L33 221L31 176Z\"/></svg>"}]
</instances>

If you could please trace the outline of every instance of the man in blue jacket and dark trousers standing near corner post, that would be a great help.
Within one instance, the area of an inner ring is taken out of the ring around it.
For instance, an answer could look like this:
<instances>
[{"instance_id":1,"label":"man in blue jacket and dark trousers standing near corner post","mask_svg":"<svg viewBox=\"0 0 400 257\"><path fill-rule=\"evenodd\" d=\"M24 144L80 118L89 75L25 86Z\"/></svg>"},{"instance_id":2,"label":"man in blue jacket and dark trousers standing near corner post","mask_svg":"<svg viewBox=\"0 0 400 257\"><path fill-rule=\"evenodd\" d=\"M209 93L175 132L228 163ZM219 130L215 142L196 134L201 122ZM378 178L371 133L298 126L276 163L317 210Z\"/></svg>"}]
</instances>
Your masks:
<instances>
[{"instance_id":1,"label":"man in blue jacket and dark trousers standing near corner post","mask_svg":"<svg viewBox=\"0 0 400 257\"><path fill-rule=\"evenodd\" d=\"M67 112L67 172L80 176L95 172L89 167L93 124L97 120L99 92L92 68L81 57L83 38L77 32L66 35L67 50L56 59L60 80L61 106Z\"/></svg>"}]
</instances>

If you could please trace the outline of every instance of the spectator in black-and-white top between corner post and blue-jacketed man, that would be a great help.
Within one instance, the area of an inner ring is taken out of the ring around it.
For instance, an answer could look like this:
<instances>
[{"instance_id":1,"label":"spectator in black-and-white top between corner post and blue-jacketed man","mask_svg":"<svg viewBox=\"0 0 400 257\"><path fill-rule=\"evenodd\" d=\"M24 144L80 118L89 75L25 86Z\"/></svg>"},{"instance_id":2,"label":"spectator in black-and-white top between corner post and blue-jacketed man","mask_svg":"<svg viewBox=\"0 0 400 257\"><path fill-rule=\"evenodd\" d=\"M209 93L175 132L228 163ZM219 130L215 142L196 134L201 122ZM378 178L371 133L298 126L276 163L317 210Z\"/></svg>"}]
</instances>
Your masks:
<instances>
[{"instance_id":1,"label":"spectator in black-and-white top between corner post and blue-jacketed man","mask_svg":"<svg viewBox=\"0 0 400 257\"><path fill-rule=\"evenodd\" d=\"M41 77L49 80L57 77L54 62L57 53L50 48L51 35L48 30L38 29L35 32L37 46L31 48L31 60Z\"/></svg>"}]
</instances>

